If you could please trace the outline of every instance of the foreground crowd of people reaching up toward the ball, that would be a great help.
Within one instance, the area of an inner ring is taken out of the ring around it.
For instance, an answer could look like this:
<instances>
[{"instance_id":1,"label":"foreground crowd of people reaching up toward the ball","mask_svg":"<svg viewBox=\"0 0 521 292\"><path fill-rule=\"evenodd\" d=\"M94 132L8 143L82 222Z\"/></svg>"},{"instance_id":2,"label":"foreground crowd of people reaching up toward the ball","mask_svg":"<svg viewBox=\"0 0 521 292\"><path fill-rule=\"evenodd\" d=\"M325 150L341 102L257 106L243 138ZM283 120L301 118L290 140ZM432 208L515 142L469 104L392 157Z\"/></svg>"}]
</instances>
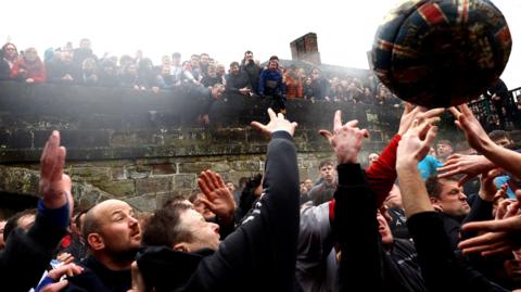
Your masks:
<instances>
[{"instance_id":1,"label":"foreground crowd of people reaching up toward the ball","mask_svg":"<svg viewBox=\"0 0 521 292\"><path fill-rule=\"evenodd\" d=\"M444 109L406 103L398 131L361 167L368 130L334 115L319 132L335 162L300 181L297 124L268 110L264 174L199 191L153 213L120 200L74 208L66 150L49 138L36 210L0 241L8 291L512 291L521 288L521 154L467 105L449 112L469 149L437 140ZM469 154L472 153L472 154Z\"/></svg>"}]
</instances>

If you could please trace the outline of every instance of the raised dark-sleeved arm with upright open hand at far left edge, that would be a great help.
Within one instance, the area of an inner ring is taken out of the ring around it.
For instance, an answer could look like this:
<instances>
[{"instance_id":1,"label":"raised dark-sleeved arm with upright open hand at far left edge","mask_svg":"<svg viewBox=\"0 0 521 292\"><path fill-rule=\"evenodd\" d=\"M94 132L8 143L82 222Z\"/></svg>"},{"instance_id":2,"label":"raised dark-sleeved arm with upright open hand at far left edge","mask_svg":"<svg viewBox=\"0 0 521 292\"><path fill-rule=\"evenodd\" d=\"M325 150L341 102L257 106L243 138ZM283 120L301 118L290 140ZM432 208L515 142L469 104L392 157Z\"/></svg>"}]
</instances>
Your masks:
<instances>
[{"instance_id":1,"label":"raised dark-sleeved arm with upright open hand at far left edge","mask_svg":"<svg viewBox=\"0 0 521 292\"><path fill-rule=\"evenodd\" d=\"M65 148L60 147L60 134L53 131L41 154L36 220L26 232L14 229L5 250L0 252L2 291L23 291L38 284L60 240L66 234L71 212L71 178L62 173Z\"/></svg>"}]
</instances>

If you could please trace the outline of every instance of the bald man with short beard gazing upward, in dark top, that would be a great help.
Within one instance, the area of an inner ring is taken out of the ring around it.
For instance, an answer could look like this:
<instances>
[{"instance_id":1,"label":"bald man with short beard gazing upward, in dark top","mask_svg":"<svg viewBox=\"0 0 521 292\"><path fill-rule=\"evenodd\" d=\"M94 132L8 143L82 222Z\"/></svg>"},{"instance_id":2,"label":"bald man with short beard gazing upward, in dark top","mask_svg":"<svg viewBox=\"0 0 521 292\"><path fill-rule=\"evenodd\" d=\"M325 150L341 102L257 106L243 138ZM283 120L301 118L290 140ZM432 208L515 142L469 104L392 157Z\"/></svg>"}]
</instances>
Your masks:
<instances>
[{"instance_id":1,"label":"bald man with short beard gazing upward, in dark top","mask_svg":"<svg viewBox=\"0 0 521 292\"><path fill-rule=\"evenodd\" d=\"M132 207L119 200L96 205L85 215L84 238L91 255L80 263L85 271L69 278L64 291L129 290L130 264L141 241Z\"/></svg>"}]
</instances>

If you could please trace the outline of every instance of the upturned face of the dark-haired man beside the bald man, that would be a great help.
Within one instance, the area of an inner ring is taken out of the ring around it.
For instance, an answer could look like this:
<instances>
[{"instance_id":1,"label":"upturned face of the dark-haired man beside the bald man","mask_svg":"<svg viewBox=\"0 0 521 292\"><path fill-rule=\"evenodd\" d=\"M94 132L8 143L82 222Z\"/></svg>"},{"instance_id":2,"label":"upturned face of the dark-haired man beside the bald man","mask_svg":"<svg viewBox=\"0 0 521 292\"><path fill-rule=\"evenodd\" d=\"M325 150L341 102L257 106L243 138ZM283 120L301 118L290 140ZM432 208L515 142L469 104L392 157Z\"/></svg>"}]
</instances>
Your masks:
<instances>
[{"instance_id":1,"label":"upturned face of the dark-haired man beside the bald man","mask_svg":"<svg viewBox=\"0 0 521 292\"><path fill-rule=\"evenodd\" d=\"M188 230L192 236L191 242L188 242L188 252L201 249L219 249L219 226L208 223L195 210L189 208L181 216L182 229Z\"/></svg>"}]
</instances>

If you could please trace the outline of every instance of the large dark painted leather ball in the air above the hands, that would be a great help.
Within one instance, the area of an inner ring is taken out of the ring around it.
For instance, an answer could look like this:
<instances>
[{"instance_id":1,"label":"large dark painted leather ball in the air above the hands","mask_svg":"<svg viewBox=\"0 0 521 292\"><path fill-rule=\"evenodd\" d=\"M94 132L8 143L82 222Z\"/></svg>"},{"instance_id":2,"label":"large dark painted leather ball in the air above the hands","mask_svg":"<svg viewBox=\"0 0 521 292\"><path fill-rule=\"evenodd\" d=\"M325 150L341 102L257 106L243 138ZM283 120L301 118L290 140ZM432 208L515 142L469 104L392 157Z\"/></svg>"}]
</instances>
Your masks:
<instances>
[{"instance_id":1,"label":"large dark painted leather ball in the air above the hands","mask_svg":"<svg viewBox=\"0 0 521 292\"><path fill-rule=\"evenodd\" d=\"M447 107L493 86L511 47L507 22L488 0L409 0L378 28L371 59L401 99Z\"/></svg>"}]
</instances>

